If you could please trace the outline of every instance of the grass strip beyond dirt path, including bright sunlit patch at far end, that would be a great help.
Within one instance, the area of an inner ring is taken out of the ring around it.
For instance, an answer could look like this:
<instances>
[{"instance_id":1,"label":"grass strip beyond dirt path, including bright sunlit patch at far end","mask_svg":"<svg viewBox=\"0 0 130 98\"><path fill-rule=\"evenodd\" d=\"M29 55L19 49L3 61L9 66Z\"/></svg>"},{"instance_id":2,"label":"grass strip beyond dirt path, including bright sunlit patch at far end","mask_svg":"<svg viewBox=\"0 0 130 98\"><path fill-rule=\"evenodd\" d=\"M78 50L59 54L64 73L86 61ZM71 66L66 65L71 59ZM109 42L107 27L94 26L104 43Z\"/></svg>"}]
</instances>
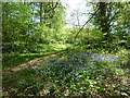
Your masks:
<instances>
[{"instance_id":1,"label":"grass strip beyond dirt path, including bright sunlit patch at far end","mask_svg":"<svg viewBox=\"0 0 130 98\"><path fill-rule=\"evenodd\" d=\"M14 68L21 63L28 62L35 58L47 57L51 53L54 53L55 51L65 51L69 47L69 45L64 45L64 47L62 46L63 45L42 46L42 47L46 47L47 49L41 50L38 53L16 54L15 52L13 52L13 53L3 54L2 68L3 69Z\"/></svg>"}]
</instances>

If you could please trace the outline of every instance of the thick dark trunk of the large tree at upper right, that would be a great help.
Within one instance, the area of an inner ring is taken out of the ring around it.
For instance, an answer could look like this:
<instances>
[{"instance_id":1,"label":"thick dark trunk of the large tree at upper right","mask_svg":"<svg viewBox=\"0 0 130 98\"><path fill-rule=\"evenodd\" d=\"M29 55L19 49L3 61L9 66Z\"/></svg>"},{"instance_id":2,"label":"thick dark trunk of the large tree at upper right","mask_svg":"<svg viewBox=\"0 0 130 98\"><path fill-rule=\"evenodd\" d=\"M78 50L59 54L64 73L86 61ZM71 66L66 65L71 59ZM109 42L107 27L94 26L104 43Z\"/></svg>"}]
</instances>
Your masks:
<instances>
[{"instance_id":1,"label":"thick dark trunk of the large tree at upper right","mask_svg":"<svg viewBox=\"0 0 130 98\"><path fill-rule=\"evenodd\" d=\"M99 12L94 15L94 25L99 25L99 29L105 34L105 40L108 39L110 33L110 15L112 15L112 2L98 2L96 9Z\"/></svg>"}]
</instances>

